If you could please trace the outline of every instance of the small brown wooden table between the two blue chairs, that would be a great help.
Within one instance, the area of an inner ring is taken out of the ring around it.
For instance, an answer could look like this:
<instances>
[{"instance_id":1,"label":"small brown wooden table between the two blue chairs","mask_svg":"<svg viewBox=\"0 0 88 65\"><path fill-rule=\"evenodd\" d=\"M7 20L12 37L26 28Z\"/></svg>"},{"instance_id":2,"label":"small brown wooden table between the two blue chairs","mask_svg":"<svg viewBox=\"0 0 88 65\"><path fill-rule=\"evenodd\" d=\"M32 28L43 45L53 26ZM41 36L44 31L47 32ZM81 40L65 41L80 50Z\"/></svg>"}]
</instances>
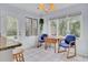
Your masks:
<instances>
[{"instance_id":1,"label":"small brown wooden table between the two blue chairs","mask_svg":"<svg viewBox=\"0 0 88 65\"><path fill-rule=\"evenodd\" d=\"M56 45L59 43L60 39L57 37L47 37L45 40L45 50L47 50L48 45L55 45L55 53L56 53Z\"/></svg>"}]
</instances>

